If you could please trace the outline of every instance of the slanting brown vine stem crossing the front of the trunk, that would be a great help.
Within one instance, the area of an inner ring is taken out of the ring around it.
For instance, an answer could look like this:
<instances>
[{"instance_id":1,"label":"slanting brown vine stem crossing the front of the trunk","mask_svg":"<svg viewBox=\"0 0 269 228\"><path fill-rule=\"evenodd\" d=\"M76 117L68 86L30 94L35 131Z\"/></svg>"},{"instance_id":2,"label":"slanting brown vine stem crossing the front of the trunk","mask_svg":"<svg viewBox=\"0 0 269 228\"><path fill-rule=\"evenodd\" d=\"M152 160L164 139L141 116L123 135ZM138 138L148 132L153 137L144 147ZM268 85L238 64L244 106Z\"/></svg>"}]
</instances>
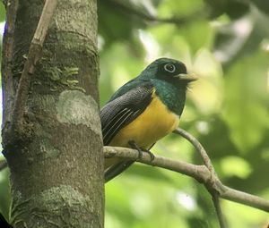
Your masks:
<instances>
[{"instance_id":1,"label":"slanting brown vine stem crossing the front of the trunk","mask_svg":"<svg viewBox=\"0 0 269 228\"><path fill-rule=\"evenodd\" d=\"M39 60L39 54L48 31L49 22L56 8L56 3L56 0L46 1L39 19L37 30L35 31L35 34L31 40L29 53L27 55L27 60L24 63L22 76L14 100L11 132L13 132L14 128L18 128L20 131L23 108L30 88L31 74L33 73L35 63L37 63Z\"/></svg>"}]
</instances>

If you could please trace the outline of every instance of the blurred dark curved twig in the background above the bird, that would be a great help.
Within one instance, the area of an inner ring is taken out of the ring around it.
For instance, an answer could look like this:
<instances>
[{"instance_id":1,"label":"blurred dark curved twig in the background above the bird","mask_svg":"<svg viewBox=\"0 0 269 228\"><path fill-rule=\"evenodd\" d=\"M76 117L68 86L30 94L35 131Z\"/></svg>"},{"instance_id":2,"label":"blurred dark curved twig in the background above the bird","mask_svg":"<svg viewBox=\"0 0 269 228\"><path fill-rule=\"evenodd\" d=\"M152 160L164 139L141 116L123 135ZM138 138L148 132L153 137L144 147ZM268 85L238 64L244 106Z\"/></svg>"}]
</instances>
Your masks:
<instances>
[{"instance_id":1,"label":"blurred dark curved twig in the background above the bird","mask_svg":"<svg viewBox=\"0 0 269 228\"><path fill-rule=\"evenodd\" d=\"M199 13L196 12L185 17L159 18L159 17L153 16L150 13L143 13L142 11L136 9L135 7L126 4L124 1L109 0L108 2L110 2L110 4L116 5L117 8L123 9L124 12L128 14L133 14L139 18L142 18L143 20L156 21L156 22L162 22L162 23L183 24L183 23L186 23L187 21L194 20L197 17L201 17L201 14L204 13L204 10L203 10Z\"/></svg>"}]
</instances>

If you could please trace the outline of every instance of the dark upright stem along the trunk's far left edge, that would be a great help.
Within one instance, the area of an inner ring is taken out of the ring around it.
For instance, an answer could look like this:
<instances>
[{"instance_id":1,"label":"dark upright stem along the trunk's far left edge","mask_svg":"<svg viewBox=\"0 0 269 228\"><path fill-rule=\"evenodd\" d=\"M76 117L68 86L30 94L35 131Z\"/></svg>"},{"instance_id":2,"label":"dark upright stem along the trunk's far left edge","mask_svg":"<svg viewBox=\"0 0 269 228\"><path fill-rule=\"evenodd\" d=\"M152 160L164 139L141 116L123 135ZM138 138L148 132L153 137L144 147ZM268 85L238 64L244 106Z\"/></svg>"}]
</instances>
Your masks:
<instances>
[{"instance_id":1,"label":"dark upright stem along the trunk's far left edge","mask_svg":"<svg viewBox=\"0 0 269 228\"><path fill-rule=\"evenodd\" d=\"M2 53L2 88L4 88L4 127L5 122L11 122L11 110L13 107L13 31L19 0L8 0L6 3L6 22L3 38L3 53Z\"/></svg>"}]
</instances>

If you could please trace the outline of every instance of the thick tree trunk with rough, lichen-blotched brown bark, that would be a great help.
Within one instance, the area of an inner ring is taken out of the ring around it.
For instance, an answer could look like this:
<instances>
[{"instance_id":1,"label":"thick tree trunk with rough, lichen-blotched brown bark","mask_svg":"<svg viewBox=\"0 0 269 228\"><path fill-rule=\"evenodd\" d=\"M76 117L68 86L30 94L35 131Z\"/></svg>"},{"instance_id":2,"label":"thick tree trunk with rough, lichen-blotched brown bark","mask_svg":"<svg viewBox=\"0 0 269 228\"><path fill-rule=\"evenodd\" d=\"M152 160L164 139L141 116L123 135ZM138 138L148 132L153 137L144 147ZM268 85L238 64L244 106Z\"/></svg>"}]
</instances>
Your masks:
<instances>
[{"instance_id":1,"label":"thick tree trunk with rough, lichen-blotched brown bark","mask_svg":"<svg viewBox=\"0 0 269 228\"><path fill-rule=\"evenodd\" d=\"M43 4L20 1L13 35L14 89ZM16 139L5 131L9 120L3 122L13 227L103 227L98 64L96 1L59 0Z\"/></svg>"}]
</instances>

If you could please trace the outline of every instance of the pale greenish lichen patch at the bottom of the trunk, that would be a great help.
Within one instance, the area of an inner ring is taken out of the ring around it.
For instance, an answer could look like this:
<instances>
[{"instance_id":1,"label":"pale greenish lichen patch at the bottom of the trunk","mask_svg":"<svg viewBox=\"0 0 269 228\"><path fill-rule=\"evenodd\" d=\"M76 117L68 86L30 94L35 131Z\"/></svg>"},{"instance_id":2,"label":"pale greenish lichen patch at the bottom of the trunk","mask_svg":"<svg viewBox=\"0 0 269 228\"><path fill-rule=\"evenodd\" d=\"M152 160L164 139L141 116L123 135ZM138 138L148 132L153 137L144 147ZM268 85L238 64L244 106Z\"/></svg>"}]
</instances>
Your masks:
<instances>
[{"instance_id":1,"label":"pale greenish lichen patch at the bottom of the trunk","mask_svg":"<svg viewBox=\"0 0 269 228\"><path fill-rule=\"evenodd\" d=\"M96 227L95 225L99 224L98 216L94 215L91 198L82 195L72 186L60 185L30 198L23 198L20 192L15 192L13 205L15 212L12 222L16 227L24 227L25 224L27 227L36 227L37 224L39 227ZM70 216L72 214L76 216ZM16 219L17 216L21 219Z\"/></svg>"}]
</instances>

